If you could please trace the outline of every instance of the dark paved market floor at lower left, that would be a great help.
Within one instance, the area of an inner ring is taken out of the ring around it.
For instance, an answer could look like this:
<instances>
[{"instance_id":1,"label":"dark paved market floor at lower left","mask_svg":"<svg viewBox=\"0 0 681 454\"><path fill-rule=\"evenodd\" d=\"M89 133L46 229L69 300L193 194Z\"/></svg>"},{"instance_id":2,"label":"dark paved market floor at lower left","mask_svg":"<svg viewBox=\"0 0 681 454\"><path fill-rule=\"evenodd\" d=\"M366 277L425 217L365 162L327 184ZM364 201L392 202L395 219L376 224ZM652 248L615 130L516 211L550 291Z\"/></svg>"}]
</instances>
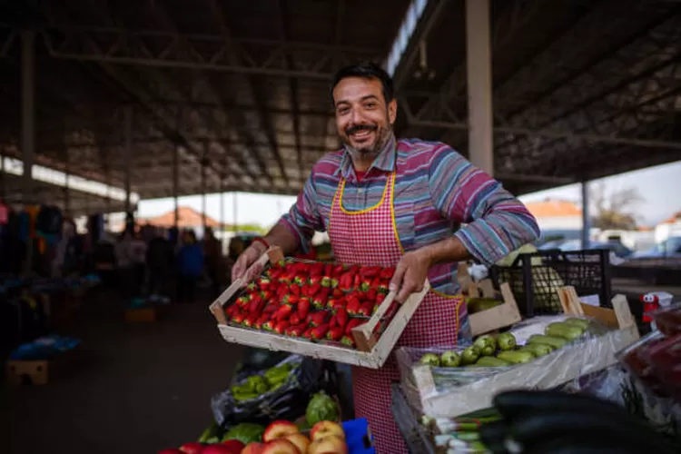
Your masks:
<instances>
[{"instance_id":1,"label":"dark paved market floor at lower left","mask_svg":"<svg viewBox=\"0 0 681 454\"><path fill-rule=\"evenodd\" d=\"M91 301L66 332L83 340L68 375L0 389L0 452L149 454L196 439L242 357L207 304L173 305L163 320L135 326L114 299Z\"/></svg>"}]
</instances>

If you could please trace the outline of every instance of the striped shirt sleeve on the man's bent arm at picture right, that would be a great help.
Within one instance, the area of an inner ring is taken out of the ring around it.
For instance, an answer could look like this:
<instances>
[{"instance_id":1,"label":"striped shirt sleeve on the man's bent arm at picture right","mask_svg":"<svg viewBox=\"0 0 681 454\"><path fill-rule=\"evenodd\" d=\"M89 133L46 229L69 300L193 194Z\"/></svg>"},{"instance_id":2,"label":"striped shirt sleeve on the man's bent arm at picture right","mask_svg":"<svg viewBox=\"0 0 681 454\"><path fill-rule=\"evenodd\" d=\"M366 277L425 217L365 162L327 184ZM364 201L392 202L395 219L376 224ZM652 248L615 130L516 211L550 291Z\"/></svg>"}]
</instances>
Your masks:
<instances>
[{"instance_id":1,"label":"striped shirt sleeve on the man's bent arm at picture right","mask_svg":"<svg viewBox=\"0 0 681 454\"><path fill-rule=\"evenodd\" d=\"M479 262L491 265L539 236L525 205L447 145L433 153L429 190L436 208L466 224L454 236Z\"/></svg>"}]
</instances>

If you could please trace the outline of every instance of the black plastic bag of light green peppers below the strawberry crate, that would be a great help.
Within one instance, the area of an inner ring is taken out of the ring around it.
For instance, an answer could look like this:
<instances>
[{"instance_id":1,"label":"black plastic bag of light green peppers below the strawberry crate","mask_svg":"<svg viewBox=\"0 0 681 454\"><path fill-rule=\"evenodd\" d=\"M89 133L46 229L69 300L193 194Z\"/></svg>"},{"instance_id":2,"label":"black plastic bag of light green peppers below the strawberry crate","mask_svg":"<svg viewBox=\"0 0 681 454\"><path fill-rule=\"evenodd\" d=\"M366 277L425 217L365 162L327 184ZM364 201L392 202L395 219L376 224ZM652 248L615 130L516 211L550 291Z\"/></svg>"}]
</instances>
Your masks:
<instances>
[{"instance_id":1,"label":"black plastic bag of light green peppers below the strawberry crate","mask_svg":"<svg viewBox=\"0 0 681 454\"><path fill-rule=\"evenodd\" d=\"M326 361L291 355L213 396L212 413L226 428L242 422L267 425L274 419L297 419L305 414L311 394L331 389L335 380L335 371Z\"/></svg>"}]
</instances>

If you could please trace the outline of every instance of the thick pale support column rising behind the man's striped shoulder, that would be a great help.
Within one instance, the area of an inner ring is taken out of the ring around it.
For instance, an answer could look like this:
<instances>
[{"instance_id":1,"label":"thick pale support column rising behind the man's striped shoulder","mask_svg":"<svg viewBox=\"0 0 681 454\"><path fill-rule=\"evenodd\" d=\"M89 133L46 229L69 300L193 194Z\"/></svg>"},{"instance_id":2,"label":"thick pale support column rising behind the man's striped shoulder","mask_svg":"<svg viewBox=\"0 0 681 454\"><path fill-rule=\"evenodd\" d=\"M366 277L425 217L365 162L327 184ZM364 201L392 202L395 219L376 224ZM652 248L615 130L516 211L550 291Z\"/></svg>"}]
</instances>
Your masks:
<instances>
[{"instance_id":1,"label":"thick pale support column rising behind the man's striped shoulder","mask_svg":"<svg viewBox=\"0 0 681 454\"><path fill-rule=\"evenodd\" d=\"M489 0L466 0L466 69L470 162L493 175Z\"/></svg>"}]
</instances>

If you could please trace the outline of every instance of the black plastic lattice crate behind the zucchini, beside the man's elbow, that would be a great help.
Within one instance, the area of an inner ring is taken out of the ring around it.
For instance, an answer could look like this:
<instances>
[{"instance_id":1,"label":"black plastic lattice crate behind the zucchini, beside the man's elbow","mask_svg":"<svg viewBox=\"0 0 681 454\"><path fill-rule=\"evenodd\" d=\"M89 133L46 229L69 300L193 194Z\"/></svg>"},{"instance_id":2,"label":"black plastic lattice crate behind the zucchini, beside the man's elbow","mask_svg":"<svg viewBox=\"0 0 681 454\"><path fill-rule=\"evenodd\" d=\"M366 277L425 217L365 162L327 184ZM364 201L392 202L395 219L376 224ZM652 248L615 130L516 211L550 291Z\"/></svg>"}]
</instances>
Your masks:
<instances>
[{"instance_id":1,"label":"black plastic lattice crate behind the zucchini, beside the man's elbow","mask_svg":"<svg viewBox=\"0 0 681 454\"><path fill-rule=\"evenodd\" d=\"M493 266L490 274L496 285L508 282L526 317L562 311L558 289L566 285L580 296L598 295L602 307L612 307L609 254L605 249L519 254L511 266Z\"/></svg>"}]
</instances>

